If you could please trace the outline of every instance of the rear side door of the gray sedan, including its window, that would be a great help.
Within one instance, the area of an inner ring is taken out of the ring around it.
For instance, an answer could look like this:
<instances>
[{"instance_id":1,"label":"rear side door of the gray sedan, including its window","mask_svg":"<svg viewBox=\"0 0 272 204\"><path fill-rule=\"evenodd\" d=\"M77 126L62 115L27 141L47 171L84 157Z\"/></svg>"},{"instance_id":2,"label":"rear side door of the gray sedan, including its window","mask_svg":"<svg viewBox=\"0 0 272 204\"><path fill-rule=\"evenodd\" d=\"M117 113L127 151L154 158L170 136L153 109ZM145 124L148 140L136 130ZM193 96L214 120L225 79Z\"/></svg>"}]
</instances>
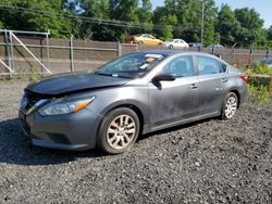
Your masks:
<instances>
[{"instance_id":1,"label":"rear side door of the gray sedan, including its window","mask_svg":"<svg viewBox=\"0 0 272 204\"><path fill-rule=\"evenodd\" d=\"M197 55L199 115L220 113L227 82L226 65L214 58Z\"/></svg>"}]
</instances>

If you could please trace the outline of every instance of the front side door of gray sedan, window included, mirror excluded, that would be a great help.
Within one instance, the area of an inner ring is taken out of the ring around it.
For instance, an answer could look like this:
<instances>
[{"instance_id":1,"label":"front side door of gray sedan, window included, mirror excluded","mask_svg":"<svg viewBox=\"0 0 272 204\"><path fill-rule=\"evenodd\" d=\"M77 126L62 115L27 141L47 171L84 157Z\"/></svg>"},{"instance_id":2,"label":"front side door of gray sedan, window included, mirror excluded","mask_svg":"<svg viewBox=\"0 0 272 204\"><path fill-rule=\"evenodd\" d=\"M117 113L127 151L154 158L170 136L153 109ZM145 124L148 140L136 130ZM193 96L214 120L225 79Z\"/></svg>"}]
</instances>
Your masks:
<instances>
[{"instance_id":1,"label":"front side door of gray sedan, window included, mirror excluded","mask_svg":"<svg viewBox=\"0 0 272 204\"><path fill-rule=\"evenodd\" d=\"M193 58L176 56L162 69L173 74L174 81L149 85L151 129L178 124L198 115L198 77L194 75Z\"/></svg>"}]
</instances>

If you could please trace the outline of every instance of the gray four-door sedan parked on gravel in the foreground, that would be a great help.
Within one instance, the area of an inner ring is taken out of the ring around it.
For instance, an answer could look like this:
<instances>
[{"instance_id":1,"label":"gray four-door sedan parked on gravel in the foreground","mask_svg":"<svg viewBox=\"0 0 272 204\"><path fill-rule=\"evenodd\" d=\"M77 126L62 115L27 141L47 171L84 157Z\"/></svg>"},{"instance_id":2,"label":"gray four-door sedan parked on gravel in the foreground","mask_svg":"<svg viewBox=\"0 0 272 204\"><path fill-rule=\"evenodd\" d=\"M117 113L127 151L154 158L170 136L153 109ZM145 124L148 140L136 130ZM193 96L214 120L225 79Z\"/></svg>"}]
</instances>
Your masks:
<instances>
[{"instance_id":1,"label":"gray four-door sedan parked on gravel in the foreground","mask_svg":"<svg viewBox=\"0 0 272 204\"><path fill-rule=\"evenodd\" d=\"M44 78L25 88L20 124L38 146L116 154L139 135L208 117L232 118L247 78L210 54L136 52L96 72Z\"/></svg>"}]
</instances>

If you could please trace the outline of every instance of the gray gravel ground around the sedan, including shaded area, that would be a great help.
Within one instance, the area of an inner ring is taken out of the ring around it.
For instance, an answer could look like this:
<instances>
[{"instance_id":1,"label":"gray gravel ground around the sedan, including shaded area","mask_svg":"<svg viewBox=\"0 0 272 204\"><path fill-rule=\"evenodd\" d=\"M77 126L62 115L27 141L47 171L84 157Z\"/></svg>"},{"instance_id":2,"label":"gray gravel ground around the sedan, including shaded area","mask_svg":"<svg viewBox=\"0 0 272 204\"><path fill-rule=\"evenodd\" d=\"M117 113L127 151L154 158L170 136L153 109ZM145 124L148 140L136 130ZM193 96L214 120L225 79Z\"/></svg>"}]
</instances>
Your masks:
<instances>
[{"instance_id":1,"label":"gray gravel ground around the sedan, including shaded area","mask_svg":"<svg viewBox=\"0 0 272 204\"><path fill-rule=\"evenodd\" d=\"M25 85L0 82L0 203L272 203L272 103L108 156L32 146L16 119Z\"/></svg>"}]
</instances>

